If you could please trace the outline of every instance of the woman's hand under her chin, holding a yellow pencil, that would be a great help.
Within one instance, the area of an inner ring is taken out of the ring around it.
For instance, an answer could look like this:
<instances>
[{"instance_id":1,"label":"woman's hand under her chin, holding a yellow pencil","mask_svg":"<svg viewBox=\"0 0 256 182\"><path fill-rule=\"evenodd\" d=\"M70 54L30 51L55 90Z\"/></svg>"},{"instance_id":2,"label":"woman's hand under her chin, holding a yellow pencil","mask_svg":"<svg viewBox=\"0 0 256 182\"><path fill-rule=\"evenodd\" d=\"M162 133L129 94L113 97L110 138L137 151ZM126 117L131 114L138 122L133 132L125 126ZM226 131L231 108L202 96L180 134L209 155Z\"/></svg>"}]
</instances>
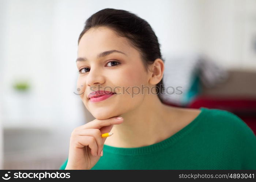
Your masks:
<instances>
[{"instance_id":1,"label":"woman's hand under her chin, holding a yellow pencil","mask_svg":"<svg viewBox=\"0 0 256 182\"><path fill-rule=\"evenodd\" d=\"M106 138L101 134L110 132L114 124L123 123L123 118L94 119L75 128L70 137L66 169L91 169L101 157Z\"/></svg>"}]
</instances>

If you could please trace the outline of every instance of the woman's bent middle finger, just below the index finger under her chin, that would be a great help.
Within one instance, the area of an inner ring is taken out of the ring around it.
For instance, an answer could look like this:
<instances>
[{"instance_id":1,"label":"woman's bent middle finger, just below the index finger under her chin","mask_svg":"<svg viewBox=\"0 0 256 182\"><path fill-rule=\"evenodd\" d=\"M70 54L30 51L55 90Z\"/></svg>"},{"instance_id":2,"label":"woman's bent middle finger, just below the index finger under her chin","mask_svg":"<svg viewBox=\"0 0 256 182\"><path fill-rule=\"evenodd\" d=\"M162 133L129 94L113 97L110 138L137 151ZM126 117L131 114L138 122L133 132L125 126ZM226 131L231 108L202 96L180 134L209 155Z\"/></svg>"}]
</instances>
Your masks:
<instances>
[{"instance_id":1,"label":"woman's bent middle finger, just below the index finger under her chin","mask_svg":"<svg viewBox=\"0 0 256 182\"><path fill-rule=\"evenodd\" d=\"M95 141L98 146L97 154L100 155L101 151L103 149L103 140L101 137L101 130L99 129L85 129L85 130L78 130L76 131L76 134L79 136L91 136L95 138Z\"/></svg>"}]
</instances>

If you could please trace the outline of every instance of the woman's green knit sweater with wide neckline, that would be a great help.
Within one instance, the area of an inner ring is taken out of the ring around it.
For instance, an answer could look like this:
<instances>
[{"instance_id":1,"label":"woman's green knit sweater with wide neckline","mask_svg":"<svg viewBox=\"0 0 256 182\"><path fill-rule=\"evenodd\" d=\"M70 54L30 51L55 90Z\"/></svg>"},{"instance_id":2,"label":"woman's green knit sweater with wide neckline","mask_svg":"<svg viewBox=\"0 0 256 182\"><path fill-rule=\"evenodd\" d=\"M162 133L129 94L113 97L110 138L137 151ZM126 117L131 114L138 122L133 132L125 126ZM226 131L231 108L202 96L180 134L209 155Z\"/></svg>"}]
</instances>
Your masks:
<instances>
[{"instance_id":1,"label":"woman's green knit sweater with wide neckline","mask_svg":"<svg viewBox=\"0 0 256 182\"><path fill-rule=\"evenodd\" d=\"M255 170L256 136L251 128L231 112L200 110L187 126L153 145L104 145L104 155L92 169Z\"/></svg>"}]
</instances>

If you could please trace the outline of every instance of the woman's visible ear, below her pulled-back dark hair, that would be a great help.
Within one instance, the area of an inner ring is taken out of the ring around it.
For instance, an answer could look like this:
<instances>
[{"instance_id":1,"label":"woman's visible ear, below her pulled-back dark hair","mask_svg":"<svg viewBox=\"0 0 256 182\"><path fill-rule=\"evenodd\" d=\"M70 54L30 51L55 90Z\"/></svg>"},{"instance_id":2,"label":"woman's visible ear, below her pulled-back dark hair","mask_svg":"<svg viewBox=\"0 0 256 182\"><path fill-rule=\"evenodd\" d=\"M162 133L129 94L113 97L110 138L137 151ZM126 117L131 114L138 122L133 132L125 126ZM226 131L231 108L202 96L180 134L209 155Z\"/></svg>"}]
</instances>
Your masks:
<instances>
[{"instance_id":1,"label":"woman's visible ear, below her pulled-back dark hair","mask_svg":"<svg viewBox=\"0 0 256 182\"><path fill-rule=\"evenodd\" d=\"M165 69L162 59L155 59L154 63L150 65L150 78L148 82L152 85L158 84L163 78L163 71Z\"/></svg>"}]
</instances>

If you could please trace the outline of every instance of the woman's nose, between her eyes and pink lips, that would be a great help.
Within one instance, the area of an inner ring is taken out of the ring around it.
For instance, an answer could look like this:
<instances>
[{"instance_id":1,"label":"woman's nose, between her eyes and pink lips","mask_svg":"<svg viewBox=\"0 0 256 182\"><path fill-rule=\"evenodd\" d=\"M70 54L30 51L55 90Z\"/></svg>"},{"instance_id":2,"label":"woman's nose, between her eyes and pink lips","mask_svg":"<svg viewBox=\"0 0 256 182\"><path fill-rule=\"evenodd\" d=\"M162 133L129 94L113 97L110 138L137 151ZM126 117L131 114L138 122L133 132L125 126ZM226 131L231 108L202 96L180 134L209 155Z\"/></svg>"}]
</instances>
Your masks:
<instances>
[{"instance_id":1,"label":"woman's nose, between her eyes and pink lips","mask_svg":"<svg viewBox=\"0 0 256 182\"><path fill-rule=\"evenodd\" d=\"M101 71L98 71L96 69L90 69L90 72L86 77L86 84L88 86L95 86L98 84L103 84L104 82L105 79Z\"/></svg>"}]
</instances>

